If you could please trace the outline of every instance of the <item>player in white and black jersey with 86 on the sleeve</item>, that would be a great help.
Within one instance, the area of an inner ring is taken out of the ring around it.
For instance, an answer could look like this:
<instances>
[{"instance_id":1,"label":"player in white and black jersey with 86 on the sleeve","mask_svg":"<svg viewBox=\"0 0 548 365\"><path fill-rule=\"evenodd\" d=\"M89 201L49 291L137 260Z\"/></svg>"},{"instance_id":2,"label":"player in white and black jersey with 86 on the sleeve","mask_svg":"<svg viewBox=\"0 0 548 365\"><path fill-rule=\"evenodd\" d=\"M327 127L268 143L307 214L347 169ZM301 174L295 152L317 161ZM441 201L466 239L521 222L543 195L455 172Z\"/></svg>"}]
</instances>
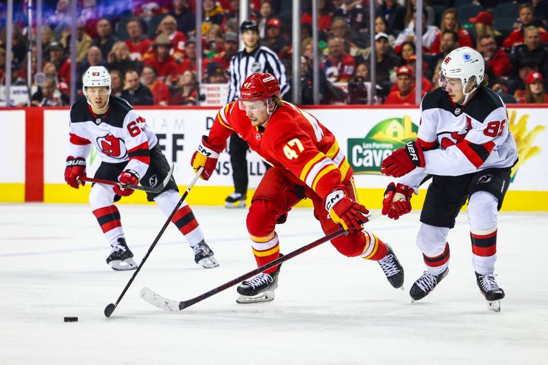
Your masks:
<instances>
[{"instance_id":1,"label":"player in white and black jersey with 86 on the sleeve","mask_svg":"<svg viewBox=\"0 0 548 365\"><path fill-rule=\"evenodd\" d=\"M490 90L484 59L461 47L441 64L440 88L421 102L416 141L395 150L382 163L383 174L400 178L390 183L383 213L397 219L411 211L410 199L421 182L432 177L416 245L423 253L424 274L414 282L413 301L428 295L449 269L449 229L460 208L466 209L477 286L493 310L500 310L504 291L495 281L497 215L518 154L508 129L506 105Z\"/></svg>"}]
</instances>

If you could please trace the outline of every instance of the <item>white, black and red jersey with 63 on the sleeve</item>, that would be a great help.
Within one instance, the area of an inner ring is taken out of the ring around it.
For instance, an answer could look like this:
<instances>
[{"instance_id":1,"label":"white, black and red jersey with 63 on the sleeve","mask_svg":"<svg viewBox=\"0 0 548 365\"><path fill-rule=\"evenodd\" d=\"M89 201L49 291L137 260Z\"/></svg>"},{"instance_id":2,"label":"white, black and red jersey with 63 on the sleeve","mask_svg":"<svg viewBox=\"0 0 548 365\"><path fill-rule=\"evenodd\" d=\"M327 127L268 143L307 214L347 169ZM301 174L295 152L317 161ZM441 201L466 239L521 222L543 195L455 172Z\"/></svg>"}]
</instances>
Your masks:
<instances>
[{"instance_id":1,"label":"white, black and red jersey with 63 on the sleeve","mask_svg":"<svg viewBox=\"0 0 548 365\"><path fill-rule=\"evenodd\" d=\"M150 149L158 139L133 107L122 98L110 96L107 113L97 116L86 98L71 107L69 152L73 157L88 156L91 145L106 163L129 161L125 170L145 176L150 163Z\"/></svg>"}]
</instances>

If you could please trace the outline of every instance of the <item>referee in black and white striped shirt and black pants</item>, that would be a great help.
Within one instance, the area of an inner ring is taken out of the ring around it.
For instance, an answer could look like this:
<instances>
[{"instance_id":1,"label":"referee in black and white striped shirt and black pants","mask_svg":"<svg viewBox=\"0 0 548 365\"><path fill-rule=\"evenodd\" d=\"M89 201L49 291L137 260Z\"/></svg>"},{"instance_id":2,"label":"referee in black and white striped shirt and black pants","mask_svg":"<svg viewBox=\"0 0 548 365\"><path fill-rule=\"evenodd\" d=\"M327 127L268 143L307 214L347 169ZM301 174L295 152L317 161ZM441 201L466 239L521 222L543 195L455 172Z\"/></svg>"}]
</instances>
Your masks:
<instances>
[{"instance_id":1,"label":"referee in black and white striped shirt and black pants","mask_svg":"<svg viewBox=\"0 0 548 365\"><path fill-rule=\"evenodd\" d=\"M245 49L239 51L230 60L230 81L228 100L230 103L238 100L240 87L247 77L255 72L269 72L279 81L280 96L284 96L289 90L286 68L279 61L275 52L259 44L259 27L255 21L244 21L240 26L240 33L245 44ZM234 193L226 199L227 208L245 207L247 195L247 142L243 141L236 133L232 133L229 142L230 163L232 163L232 178L234 180Z\"/></svg>"}]
</instances>

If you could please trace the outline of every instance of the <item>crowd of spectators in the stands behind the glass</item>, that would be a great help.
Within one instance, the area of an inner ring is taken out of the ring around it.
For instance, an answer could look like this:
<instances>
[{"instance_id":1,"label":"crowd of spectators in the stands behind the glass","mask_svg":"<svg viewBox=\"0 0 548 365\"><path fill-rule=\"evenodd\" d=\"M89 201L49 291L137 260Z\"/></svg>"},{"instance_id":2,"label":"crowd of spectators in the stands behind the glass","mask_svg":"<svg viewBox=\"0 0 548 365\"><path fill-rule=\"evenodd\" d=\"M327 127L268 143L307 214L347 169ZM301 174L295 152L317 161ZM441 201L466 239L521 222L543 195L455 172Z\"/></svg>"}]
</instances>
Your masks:
<instances>
[{"instance_id":1,"label":"crowd of spectators in the stands behind the glass","mask_svg":"<svg viewBox=\"0 0 548 365\"><path fill-rule=\"evenodd\" d=\"M42 64L36 43L27 60L27 31L16 16L12 36L12 85L27 85L43 72L32 105L67 105L71 85L71 23L77 23L77 95L89 66L105 66L112 94L132 105L195 105L201 83L226 83L238 51L239 0L44 1ZM291 3L250 0L250 18L258 23L261 44L291 72ZM319 0L319 54L312 51L311 1L301 1L302 104L313 103L312 68L320 59L321 103L365 104L371 92L371 47L375 47L376 104L415 104L416 0L377 1L375 39L370 37L369 1ZM196 34L196 6L201 4L201 34ZM48 7L49 5L49 7ZM16 8L16 14L22 7ZM0 7L0 15L5 8ZM1 18L2 16L0 16ZM445 56L459 46L477 49L486 61L489 85L506 103L548 103L547 0L425 0L422 12L423 94L438 86ZM5 16L3 16L5 19ZM5 84L5 22L0 31L0 84ZM201 75L197 75L201 42ZM288 75L291 78L291 75ZM290 100L290 93L286 98Z\"/></svg>"}]
</instances>

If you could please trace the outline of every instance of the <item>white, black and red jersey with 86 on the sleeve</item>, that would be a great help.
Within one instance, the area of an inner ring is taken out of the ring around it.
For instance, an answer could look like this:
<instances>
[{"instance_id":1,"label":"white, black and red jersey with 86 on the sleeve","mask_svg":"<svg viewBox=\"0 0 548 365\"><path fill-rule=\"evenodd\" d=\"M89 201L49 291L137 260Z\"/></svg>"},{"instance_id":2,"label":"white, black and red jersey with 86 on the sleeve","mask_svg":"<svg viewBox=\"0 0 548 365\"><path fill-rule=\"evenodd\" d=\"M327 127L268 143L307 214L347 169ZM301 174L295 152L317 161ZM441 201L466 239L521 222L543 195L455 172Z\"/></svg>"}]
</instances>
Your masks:
<instances>
[{"instance_id":1,"label":"white, black and red jersey with 86 on the sleeve","mask_svg":"<svg viewBox=\"0 0 548 365\"><path fill-rule=\"evenodd\" d=\"M440 88L428 92L421 102L417 143L424 150L425 167L400 179L410 187L418 187L427 174L460 176L511 167L518 159L506 105L487 87L479 87L464 107L453 104Z\"/></svg>"}]
</instances>

